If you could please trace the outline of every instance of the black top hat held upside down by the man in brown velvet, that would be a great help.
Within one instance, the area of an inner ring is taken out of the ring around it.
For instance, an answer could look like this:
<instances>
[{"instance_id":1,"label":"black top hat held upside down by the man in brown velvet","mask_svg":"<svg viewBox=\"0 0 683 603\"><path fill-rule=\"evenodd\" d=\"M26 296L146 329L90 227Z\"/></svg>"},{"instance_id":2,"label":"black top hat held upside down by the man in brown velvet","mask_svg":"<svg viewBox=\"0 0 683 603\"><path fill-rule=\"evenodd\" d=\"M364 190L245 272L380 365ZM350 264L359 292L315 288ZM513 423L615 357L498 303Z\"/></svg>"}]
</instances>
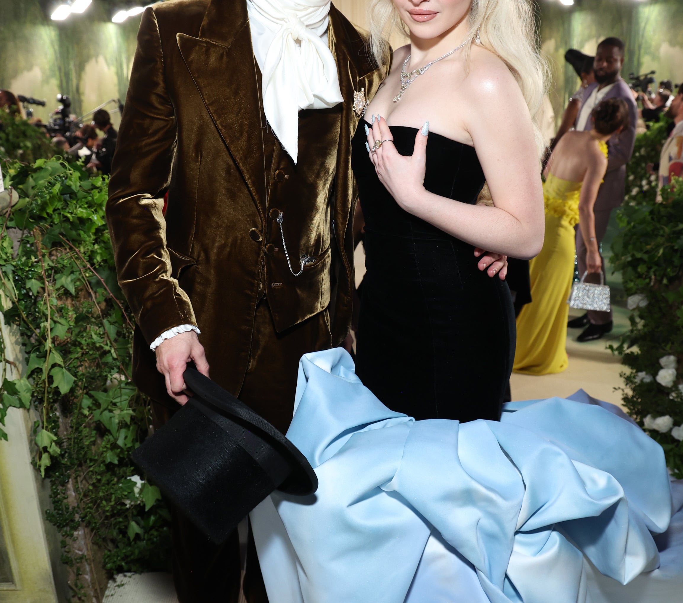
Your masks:
<instances>
[{"instance_id":1,"label":"black top hat held upside down by the man in brown velvet","mask_svg":"<svg viewBox=\"0 0 683 603\"><path fill-rule=\"evenodd\" d=\"M194 395L133 460L210 539L224 542L273 490L318 489L305 456L273 425L196 369L183 377Z\"/></svg>"}]
</instances>

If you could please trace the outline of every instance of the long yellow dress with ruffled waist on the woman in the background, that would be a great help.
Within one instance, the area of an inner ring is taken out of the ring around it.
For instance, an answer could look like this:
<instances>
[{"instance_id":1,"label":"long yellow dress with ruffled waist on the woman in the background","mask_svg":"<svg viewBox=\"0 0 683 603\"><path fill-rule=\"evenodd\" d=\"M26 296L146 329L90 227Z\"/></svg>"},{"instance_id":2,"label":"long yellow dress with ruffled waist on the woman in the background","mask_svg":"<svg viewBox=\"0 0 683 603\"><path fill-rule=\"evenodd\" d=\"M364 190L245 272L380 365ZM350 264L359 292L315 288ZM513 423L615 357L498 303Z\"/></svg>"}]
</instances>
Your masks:
<instances>
[{"instance_id":1,"label":"long yellow dress with ruffled waist on the woman in the background","mask_svg":"<svg viewBox=\"0 0 683 603\"><path fill-rule=\"evenodd\" d=\"M598 141L607 156L607 145ZM567 368L567 300L574 277L574 226L579 223L581 182L548 174L543 185L546 234L543 249L529 262L531 303L517 317L512 369L527 375L560 373Z\"/></svg>"}]
</instances>

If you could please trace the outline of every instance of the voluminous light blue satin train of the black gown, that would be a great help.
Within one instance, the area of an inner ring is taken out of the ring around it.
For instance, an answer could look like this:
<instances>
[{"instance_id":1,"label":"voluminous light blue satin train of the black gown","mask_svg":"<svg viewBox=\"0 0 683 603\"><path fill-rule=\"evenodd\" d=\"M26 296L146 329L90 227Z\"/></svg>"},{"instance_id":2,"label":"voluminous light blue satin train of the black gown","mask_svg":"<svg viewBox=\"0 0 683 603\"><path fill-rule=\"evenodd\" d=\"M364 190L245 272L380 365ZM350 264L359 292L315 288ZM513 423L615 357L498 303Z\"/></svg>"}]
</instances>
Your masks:
<instances>
[{"instance_id":1,"label":"voluminous light blue satin train of the black gown","mask_svg":"<svg viewBox=\"0 0 683 603\"><path fill-rule=\"evenodd\" d=\"M303 356L287 435L320 487L251 513L270 602L683 602L683 484L621 410L572 398L415 421L344 350Z\"/></svg>"}]
</instances>

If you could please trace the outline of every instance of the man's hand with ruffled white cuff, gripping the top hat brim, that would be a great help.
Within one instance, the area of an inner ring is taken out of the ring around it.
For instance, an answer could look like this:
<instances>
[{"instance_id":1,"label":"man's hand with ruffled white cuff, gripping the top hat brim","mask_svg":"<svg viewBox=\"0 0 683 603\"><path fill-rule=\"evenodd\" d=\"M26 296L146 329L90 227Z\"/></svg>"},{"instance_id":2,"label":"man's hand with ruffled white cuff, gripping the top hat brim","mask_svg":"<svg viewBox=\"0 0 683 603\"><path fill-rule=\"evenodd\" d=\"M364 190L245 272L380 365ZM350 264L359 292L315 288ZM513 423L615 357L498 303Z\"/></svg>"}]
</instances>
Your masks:
<instances>
[{"instance_id":1,"label":"man's hand with ruffled white cuff, gripping the top hat brim","mask_svg":"<svg viewBox=\"0 0 683 603\"><path fill-rule=\"evenodd\" d=\"M195 361L197 370L209 376L209 364L206 362L204 347L199 343L199 337L194 331L180 333L165 339L156 346L156 369L166 380L166 391L178 404L185 404L189 396L184 393L187 389L182 374L189 361Z\"/></svg>"}]
</instances>

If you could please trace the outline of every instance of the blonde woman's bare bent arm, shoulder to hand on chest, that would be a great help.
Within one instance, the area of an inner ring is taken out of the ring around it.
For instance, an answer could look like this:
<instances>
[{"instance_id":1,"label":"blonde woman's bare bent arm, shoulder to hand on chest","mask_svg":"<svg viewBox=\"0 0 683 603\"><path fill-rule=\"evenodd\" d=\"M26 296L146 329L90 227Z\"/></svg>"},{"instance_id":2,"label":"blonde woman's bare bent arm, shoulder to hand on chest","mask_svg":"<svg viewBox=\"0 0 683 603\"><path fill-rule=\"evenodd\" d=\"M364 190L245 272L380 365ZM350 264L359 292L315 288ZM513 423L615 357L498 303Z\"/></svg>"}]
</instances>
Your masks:
<instances>
[{"instance_id":1,"label":"blonde woman's bare bent arm, shoulder to hand on chest","mask_svg":"<svg viewBox=\"0 0 683 603\"><path fill-rule=\"evenodd\" d=\"M425 190L428 124L417 132L413 156L404 157L385 143L370 157L380 181L404 210L475 247L525 260L543 245L540 165L525 100L510 71L496 61L500 65L488 61L462 95L466 128L494 207L473 206ZM469 79L473 72L474 68ZM376 139L391 139L384 118L375 120L368 143Z\"/></svg>"}]
</instances>

